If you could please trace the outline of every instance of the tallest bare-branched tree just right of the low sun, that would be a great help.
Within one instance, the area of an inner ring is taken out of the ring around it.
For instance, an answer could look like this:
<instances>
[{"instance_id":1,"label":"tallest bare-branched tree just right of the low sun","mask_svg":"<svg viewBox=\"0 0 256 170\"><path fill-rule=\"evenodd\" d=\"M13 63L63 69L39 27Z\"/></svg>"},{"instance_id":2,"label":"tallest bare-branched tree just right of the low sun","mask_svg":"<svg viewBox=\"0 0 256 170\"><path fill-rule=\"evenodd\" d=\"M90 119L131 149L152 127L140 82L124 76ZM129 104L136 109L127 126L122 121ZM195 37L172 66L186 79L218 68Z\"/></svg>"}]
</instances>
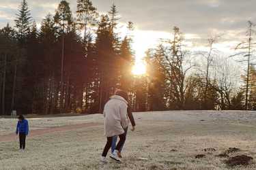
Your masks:
<instances>
[{"instance_id":1,"label":"tallest bare-branched tree just right of the low sun","mask_svg":"<svg viewBox=\"0 0 256 170\"><path fill-rule=\"evenodd\" d=\"M186 50L183 50L182 33L174 27L173 40L168 40L168 46L160 45L156 59L160 67L165 71L169 84L169 108L183 109L186 93L186 75L193 67L189 58L186 58Z\"/></svg>"}]
</instances>

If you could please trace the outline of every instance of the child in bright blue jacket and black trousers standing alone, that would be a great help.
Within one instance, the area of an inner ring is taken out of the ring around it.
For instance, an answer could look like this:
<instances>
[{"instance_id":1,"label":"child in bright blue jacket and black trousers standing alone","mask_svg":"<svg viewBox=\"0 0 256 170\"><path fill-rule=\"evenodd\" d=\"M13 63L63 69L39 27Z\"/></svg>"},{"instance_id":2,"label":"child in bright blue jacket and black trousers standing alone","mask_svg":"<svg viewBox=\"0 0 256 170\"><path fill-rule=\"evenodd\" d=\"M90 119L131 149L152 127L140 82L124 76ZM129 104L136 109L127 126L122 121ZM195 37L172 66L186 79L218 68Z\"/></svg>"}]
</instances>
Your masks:
<instances>
[{"instance_id":1,"label":"child in bright blue jacket and black trousers standing alone","mask_svg":"<svg viewBox=\"0 0 256 170\"><path fill-rule=\"evenodd\" d=\"M16 135L19 135L20 151L25 152L26 136L29 135L29 122L23 115L18 116Z\"/></svg>"}]
</instances>

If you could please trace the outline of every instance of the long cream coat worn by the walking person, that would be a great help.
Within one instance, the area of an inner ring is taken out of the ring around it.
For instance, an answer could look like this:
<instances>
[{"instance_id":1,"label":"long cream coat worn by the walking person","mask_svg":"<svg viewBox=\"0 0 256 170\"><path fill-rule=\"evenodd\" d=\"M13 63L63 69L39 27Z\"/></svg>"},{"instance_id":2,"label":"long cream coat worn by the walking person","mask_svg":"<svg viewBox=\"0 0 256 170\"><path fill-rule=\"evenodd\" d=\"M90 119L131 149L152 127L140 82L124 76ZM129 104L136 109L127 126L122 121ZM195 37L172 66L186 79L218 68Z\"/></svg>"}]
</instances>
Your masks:
<instances>
[{"instance_id":1,"label":"long cream coat worn by the walking person","mask_svg":"<svg viewBox=\"0 0 256 170\"><path fill-rule=\"evenodd\" d=\"M113 137L124 133L128 127L127 101L120 96L114 95L104 106L104 135Z\"/></svg>"}]
</instances>

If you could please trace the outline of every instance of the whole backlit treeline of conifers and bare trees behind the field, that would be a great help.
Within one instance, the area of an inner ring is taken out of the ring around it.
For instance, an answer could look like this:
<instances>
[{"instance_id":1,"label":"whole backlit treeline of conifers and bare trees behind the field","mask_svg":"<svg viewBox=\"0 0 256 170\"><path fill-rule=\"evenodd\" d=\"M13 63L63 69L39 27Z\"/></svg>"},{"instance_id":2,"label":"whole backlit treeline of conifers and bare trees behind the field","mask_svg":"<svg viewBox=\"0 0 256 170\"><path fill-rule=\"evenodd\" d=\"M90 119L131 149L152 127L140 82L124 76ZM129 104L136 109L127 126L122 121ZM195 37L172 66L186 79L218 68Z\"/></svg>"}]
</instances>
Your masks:
<instances>
[{"instance_id":1,"label":"whole backlit treeline of conifers and bare trees behind the field","mask_svg":"<svg viewBox=\"0 0 256 170\"><path fill-rule=\"evenodd\" d=\"M13 109L19 114L102 112L117 84L129 92L137 112L256 108L255 68L249 65L249 80L242 76L236 87L234 67L214 50L215 39L209 39L208 52L195 54L174 27L171 39L147 51L147 75L135 76L134 26L128 22L130 33L120 37L115 5L100 15L90 0L77 0L72 13L61 1L38 28L23 0L15 23L0 29L2 115Z\"/></svg>"}]
</instances>

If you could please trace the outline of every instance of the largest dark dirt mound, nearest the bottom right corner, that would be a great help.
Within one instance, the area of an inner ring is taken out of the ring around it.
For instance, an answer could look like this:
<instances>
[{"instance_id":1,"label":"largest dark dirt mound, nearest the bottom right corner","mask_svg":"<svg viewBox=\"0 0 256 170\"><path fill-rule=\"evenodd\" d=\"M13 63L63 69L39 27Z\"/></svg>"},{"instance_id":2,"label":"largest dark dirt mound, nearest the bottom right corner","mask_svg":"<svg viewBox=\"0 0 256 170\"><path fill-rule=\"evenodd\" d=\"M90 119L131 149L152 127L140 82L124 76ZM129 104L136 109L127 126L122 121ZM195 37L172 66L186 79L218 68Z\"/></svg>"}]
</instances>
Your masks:
<instances>
[{"instance_id":1,"label":"largest dark dirt mound, nearest the bottom right corner","mask_svg":"<svg viewBox=\"0 0 256 170\"><path fill-rule=\"evenodd\" d=\"M253 157L242 154L229 158L225 163L229 167L235 167L238 165L249 165L251 160L253 160Z\"/></svg>"}]
</instances>

